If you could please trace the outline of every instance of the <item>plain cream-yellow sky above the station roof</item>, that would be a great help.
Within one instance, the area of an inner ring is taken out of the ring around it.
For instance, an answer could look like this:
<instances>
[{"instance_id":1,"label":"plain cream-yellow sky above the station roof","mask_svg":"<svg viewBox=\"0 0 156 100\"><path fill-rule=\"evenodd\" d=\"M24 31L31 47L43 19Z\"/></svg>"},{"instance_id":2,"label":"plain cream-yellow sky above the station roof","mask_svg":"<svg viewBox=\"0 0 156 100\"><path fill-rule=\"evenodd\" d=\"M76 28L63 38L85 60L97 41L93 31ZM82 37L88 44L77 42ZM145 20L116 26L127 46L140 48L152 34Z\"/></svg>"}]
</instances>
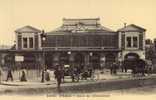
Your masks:
<instances>
[{"instance_id":1,"label":"plain cream-yellow sky above the station roof","mask_svg":"<svg viewBox=\"0 0 156 100\"><path fill-rule=\"evenodd\" d=\"M48 32L62 18L97 17L114 31L136 24L147 29L146 38L156 38L156 0L0 0L0 45L13 45L14 31L25 25Z\"/></svg>"}]
</instances>

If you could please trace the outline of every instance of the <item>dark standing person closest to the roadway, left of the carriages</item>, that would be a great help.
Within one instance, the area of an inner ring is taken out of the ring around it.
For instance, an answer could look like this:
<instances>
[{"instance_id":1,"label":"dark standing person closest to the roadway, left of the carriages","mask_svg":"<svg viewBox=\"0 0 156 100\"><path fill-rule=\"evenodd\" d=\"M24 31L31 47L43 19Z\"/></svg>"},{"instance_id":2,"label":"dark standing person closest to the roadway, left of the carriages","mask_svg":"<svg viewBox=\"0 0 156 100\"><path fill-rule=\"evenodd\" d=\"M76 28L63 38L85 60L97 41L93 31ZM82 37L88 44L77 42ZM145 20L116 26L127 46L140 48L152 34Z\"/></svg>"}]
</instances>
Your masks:
<instances>
[{"instance_id":1,"label":"dark standing person closest to the roadway, left of the carriages","mask_svg":"<svg viewBox=\"0 0 156 100\"><path fill-rule=\"evenodd\" d=\"M60 88L60 86L61 86L61 80L62 80L62 73L61 72L62 72L61 71L61 67L58 65L57 68L56 68L56 70L55 70L55 72L54 72L55 79L57 81L57 90L58 90L58 92L61 92L61 88Z\"/></svg>"}]
</instances>

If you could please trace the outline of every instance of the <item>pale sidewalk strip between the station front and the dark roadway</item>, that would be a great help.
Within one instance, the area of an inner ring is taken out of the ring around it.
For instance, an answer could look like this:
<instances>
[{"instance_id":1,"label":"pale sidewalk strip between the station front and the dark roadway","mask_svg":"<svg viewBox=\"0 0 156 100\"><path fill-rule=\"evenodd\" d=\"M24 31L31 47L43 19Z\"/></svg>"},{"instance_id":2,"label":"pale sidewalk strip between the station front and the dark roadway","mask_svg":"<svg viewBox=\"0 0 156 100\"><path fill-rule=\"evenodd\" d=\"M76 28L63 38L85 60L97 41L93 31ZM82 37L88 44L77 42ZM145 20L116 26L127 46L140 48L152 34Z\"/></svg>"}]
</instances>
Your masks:
<instances>
[{"instance_id":1,"label":"pale sidewalk strip between the station front and the dark roadway","mask_svg":"<svg viewBox=\"0 0 156 100\"><path fill-rule=\"evenodd\" d=\"M98 78L97 78L98 77ZM65 77L65 83L64 84L85 84L85 83L90 83L90 82L98 82L98 81L112 81L112 80L129 80L129 79L140 79L140 78L151 78L151 77L156 77L156 74L151 74L149 76L145 77L133 77L131 73L123 73L123 72L118 72L117 75L111 75L109 71L105 71L103 74L95 74L94 75L94 80L91 80L88 78L87 80L80 80L79 82L72 82L70 77ZM52 77L50 81L45 81L44 83L41 83L40 79L39 80L28 80L27 82L20 82L19 80L14 80L12 81L2 81L0 86L6 85L6 86L44 86L44 85L54 85L56 84L56 80Z\"/></svg>"}]
</instances>

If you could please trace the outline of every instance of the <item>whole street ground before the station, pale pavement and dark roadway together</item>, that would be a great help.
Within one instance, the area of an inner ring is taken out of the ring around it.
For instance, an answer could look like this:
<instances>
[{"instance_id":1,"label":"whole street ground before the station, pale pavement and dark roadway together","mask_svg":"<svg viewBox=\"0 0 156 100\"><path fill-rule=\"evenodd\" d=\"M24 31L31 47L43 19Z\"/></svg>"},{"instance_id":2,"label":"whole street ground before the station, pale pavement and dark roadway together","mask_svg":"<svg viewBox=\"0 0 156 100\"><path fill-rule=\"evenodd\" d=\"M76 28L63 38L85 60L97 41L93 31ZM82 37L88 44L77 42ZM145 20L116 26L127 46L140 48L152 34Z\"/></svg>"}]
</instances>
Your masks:
<instances>
[{"instance_id":1,"label":"whole street ground before the station, pale pavement and dark roadway together","mask_svg":"<svg viewBox=\"0 0 156 100\"><path fill-rule=\"evenodd\" d=\"M110 75L106 71L99 76L99 79L80 80L80 82L71 82L71 79L66 77L65 83L61 84L61 93L57 92L56 81L54 79L44 83L39 81L3 81L0 85L0 95L54 96L54 94L66 94L66 96L70 96L81 94L81 96L98 96L100 94L100 96L110 96L116 94L156 94L155 74L145 77L132 77L130 73L118 72L117 75Z\"/></svg>"}]
</instances>

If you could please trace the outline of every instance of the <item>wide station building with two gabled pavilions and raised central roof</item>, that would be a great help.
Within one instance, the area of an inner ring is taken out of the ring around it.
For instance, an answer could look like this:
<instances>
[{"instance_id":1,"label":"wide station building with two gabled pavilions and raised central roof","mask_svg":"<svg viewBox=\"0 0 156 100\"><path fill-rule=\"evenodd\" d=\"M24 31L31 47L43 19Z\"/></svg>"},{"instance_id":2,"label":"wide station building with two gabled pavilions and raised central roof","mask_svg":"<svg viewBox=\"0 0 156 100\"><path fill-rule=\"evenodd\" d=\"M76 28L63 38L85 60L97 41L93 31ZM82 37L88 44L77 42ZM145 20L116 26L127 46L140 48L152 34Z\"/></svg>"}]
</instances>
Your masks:
<instances>
[{"instance_id":1,"label":"wide station building with two gabled pavilions and raised central roof","mask_svg":"<svg viewBox=\"0 0 156 100\"><path fill-rule=\"evenodd\" d=\"M102 26L99 18L64 18L60 27L46 33L32 26L17 29L16 49L9 52L23 56L23 66L103 68L124 59L145 59L145 31L134 24L113 31Z\"/></svg>"}]
</instances>

